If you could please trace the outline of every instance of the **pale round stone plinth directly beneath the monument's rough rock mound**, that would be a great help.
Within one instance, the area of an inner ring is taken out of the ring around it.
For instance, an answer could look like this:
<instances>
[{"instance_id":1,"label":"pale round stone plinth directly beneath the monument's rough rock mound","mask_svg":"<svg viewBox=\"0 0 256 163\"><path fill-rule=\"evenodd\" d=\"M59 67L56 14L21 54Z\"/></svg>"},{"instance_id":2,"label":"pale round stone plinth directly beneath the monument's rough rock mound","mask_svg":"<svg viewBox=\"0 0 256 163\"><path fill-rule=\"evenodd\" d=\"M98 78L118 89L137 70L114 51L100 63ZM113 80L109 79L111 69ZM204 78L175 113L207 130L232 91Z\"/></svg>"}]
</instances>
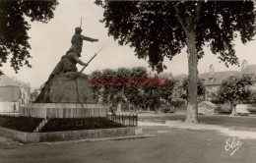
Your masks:
<instances>
[{"instance_id":1,"label":"pale round stone plinth directly beneath the monument's rough rock mound","mask_svg":"<svg viewBox=\"0 0 256 163\"><path fill-rule=\"evenodd\" d=\"M37 118L85 118L105 117L108 108L89 103L28 103L20 109L20 115Z\"/></svg>"}]
</instances>

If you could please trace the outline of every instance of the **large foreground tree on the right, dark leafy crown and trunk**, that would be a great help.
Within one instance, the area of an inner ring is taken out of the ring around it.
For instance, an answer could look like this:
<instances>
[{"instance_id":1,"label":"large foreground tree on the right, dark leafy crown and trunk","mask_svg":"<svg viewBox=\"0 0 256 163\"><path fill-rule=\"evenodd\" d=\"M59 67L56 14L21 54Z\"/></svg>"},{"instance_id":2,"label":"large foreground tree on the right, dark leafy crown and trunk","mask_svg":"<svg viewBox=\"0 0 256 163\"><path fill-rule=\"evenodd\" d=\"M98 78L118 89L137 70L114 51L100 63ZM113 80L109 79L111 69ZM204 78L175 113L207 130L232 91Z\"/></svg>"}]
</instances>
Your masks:
<instances>
[{"instance_id":1,"label":"large foreground tree on the right, dark leafy crown and trunk","mask_svg":"<svg viewBox=\"0 0 256 163\"><path fill-rule=\"evenodd\" d=\"M102 23L119 44L135 48L157 71L187 47L189 83L186 122L198 123L198 59L208 44L227 66L238 64L233 40L239 34L246 43L255 35L253 1L101 1Z\"/></svg>"}]
</instances>

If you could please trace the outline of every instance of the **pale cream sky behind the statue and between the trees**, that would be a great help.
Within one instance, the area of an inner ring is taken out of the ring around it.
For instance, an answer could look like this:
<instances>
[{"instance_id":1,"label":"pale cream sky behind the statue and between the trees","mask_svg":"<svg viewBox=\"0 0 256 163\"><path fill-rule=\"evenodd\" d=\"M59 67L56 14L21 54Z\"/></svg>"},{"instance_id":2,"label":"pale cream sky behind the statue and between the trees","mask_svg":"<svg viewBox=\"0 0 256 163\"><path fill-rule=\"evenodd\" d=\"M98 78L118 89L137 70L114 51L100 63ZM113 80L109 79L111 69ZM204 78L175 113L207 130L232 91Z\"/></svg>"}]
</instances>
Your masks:
<instances>
[{"instance_id":1,"label":"pale cream sky behind the statue and between the trees","mask_svg":"<svg viewBox=\"0 0 256 163\"><path fill-rule=\"evenodd\" d=\"M66 51L71 46L71 38L75 32L75 27L80 27L81 17L83 18L83 35L97 38L98 42L84 41L82 57L84 62L89 61L102 46L106 45L91 62L83 73L90 74L96 70L106 68L117 69L120 67L133 68L137 66L146 67L149 71L147 60L138 59L134 54L134 49L127 46L118 45L112 36L108 36L107 28L99 23L103 18L103 9L96 6L91 0L62 0L54 11L54 18L48 24L38 22L31 23L29 42L32 46L30 53L32 68L23 67L18 74L6 63L3 67L5 75L15 77L20 81L30 82L32 88L38 88L60 61ZM255 37L256 38L256 37ZM256 64L256 41L250 41L246 45L239 39L235 42L236 56L240 62L247 60L249 65ZM226 68L224 63L220 63L218 56L212 54L208 47L204 48L206 55L199 61L199 73L209 72L211 64L214 65L216 72L221 71L240 71L237 66ZM188 62L186 48L180 54L173 57L171 61L164 59L163 62L167 69L163 73L171 73L173 76L188 74ZM77 66L78 70L82 67Z\"/></svg>"}]
</instances>

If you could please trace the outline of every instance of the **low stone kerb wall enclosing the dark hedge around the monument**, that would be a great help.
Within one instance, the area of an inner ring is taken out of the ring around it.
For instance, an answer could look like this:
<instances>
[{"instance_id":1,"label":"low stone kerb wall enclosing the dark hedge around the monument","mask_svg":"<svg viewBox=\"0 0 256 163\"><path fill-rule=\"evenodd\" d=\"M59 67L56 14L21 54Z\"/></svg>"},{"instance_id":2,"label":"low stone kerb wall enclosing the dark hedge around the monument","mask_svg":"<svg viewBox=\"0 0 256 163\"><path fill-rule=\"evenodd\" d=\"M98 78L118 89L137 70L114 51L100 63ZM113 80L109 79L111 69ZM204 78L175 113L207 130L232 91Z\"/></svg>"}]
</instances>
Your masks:
<instances>
[{"instance_id":1,"label":"low stone kerb wall enclosing the dark hedge around the monument","mask_svg":"<svg viewBox=\"0 0 256 163\"><path fill-rule=\"evenodd\" d=\"M26 143L61 141L71 139L100 138L112 136L140 136L142 129L139 127L98 129L84 131L51 132L51 133L24 133L0 127L0 136L6 136Z\"/></svg>"}]
</instances>

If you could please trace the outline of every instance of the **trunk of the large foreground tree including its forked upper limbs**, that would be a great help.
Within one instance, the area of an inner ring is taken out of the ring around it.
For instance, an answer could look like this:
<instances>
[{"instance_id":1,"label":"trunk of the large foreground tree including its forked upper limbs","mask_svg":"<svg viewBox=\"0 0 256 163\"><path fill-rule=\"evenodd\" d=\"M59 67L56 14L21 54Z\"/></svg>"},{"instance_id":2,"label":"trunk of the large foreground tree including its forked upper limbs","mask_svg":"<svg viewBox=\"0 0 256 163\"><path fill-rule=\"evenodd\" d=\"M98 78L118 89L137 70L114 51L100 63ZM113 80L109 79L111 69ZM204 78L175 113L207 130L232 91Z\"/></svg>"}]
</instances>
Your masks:
<instances>
[{"instance_id":1,"label":"trunk of the large foreground tree including its forked upper limbs","mask_svg":"<svg viewBox=\"0 0 256 163\"><path fill-rule=\"evenodd\" d=\"M188 52L188 104L187 104L187 117L185 122L198 123L197 116L197 49L196 49L196 28L199 24L200 13L202 9L202 2L198 1L195 16L182 15L178 9L178 4L174 5L176 18L184 29L187 39L187 52ZM189 10L189 8L186 8Z\"/></svg>"}]
</instances>

